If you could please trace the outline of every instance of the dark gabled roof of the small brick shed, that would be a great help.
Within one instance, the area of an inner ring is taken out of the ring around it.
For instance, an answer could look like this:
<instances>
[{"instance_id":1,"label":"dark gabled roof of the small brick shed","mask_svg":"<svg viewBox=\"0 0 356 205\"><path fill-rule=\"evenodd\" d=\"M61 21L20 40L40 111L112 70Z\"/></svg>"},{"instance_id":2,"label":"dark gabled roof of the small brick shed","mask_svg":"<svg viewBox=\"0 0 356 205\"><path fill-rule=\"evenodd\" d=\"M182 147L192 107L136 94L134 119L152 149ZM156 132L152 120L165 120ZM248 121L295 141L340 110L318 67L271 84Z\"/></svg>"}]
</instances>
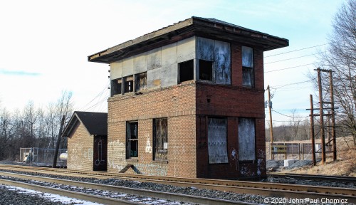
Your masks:
<instances>
[{"instance_id":1,"label":"dark gabled roof of the small brick shed","mask_svg":"<svg viewBox=\"0 0 356 205\"><path fill-rule=\"evenodd\" d=\"M108 135L108 113L75 111L70 117L68 125L64 128L62 137L70 136L78 122L83 123L90 135Z\"/></svg>"}]
</instances>

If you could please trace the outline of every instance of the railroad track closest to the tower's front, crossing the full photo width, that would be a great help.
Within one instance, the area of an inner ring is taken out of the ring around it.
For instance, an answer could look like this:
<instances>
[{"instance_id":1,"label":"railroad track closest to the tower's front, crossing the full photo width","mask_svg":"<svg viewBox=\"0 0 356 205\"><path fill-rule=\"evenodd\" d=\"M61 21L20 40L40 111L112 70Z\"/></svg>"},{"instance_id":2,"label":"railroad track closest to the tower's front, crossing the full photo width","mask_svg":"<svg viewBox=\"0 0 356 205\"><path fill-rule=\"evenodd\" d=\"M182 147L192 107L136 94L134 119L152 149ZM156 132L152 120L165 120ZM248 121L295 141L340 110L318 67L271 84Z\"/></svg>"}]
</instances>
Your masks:
<instances>
[{"instance_id":1,"label":"railroad track closest to the tower's front, crossing the full photo width","mask_svg":"<svg viewBox=\"0 0 356 205\"><path fill-rule=\"evenodd\" d=\"M241 182L214 179L185 179L175 177L155 177L136 174L114 174L107 172L80 172L70 169L52 169L43 167L23 167L0 165L0 169L37 172L46 174L69 174L71 177L95 177L100 179L120 178L139 182L154 182L173 186L194 186L201 189L231 191L239 194L257 194L267 197L283 197L298 199L347 199L348 203L356 203L356 189L335 188L326 186L305 186L295 184L276 184L263 182Z\"/></svg>"}]
</instances>

